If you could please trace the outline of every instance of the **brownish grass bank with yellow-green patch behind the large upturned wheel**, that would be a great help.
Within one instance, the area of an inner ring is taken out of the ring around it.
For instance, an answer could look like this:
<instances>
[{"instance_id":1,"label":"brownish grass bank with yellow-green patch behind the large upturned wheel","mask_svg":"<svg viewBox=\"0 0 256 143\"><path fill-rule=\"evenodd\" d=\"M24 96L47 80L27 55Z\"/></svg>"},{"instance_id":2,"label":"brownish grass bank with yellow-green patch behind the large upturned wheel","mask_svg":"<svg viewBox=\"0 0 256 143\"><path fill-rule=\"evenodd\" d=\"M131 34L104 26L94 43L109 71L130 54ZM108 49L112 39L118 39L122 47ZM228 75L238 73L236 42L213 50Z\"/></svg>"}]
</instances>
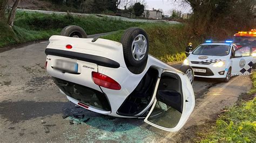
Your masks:
<instances>
[{"instance_id":1,"label":"brownish grass bank with yellow-green patch behind the large upturned wheel","mask_svg":"<svg viewBox=\"0 0 256 143\"><path fill-rule=\"evenodd\" d=\"M164 62L182 61L186 58L185 47L188 42L199 45L200 38L191 38L184 24L140 25L149 35L149 53ZM102 38L120 41L124 31L106 35Z\"/></svg>"}]
</instances>

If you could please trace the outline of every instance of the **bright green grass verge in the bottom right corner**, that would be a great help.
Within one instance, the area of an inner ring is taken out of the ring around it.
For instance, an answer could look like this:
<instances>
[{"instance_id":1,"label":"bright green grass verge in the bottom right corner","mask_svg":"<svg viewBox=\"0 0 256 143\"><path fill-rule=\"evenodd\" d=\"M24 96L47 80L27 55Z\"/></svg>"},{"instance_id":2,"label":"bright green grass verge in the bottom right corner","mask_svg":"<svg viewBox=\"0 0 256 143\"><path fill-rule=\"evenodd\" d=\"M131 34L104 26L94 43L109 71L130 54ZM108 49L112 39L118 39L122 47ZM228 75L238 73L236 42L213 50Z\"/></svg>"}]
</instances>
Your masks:
<instances>
[{"instance_id":1,"label":"bright green grass verge in the bottom right corner","mask_svg":"<svg viewBox=\"0 0 256 143\"><path fill-rule=\"evenodd\" d=\"M252 74L253 88L248 95L256 94L256 72ZM240 101L226 109L214 126L198 133L201 142L256 142L256 98Z\"/></svg>"}]
</instances>

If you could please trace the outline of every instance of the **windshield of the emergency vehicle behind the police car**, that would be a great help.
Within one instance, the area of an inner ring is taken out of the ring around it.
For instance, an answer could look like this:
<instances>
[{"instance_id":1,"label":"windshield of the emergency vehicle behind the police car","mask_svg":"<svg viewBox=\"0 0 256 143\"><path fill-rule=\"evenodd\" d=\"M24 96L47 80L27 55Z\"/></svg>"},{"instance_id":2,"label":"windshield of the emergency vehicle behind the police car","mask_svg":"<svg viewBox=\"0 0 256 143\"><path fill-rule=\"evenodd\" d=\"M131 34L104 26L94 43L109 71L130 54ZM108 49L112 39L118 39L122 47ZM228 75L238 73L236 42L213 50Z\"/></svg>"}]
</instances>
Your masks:
<instances>
[{"instance_id":1,"label":"windshield of the emergency vehicle behind the police car","mask_svg":"<svg viewBox=\"0 0 256 143\"><path fill-rule=\"evenodd\" d=\"M256 37L234 37L234 43L237 45L252 45L256 47Z\"/></svg>"}]
</instances>

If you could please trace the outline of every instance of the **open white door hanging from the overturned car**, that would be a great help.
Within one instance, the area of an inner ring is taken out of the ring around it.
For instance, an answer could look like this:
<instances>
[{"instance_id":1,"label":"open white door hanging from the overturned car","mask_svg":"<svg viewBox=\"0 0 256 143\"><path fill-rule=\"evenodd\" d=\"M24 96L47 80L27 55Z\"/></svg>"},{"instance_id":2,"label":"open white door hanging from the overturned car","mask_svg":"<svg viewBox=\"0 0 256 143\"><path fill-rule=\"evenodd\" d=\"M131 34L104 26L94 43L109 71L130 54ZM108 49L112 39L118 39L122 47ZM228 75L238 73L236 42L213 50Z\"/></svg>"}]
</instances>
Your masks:
<instances>
[{"instance_id":1,"label":"open white door hanging from the overturned car","mask_svg":"<svg viewBox=\"0 0 256 143\"><path fill-rule=\"evenodd\" d=\"M164 71L153 98L155 101L144 121L161 130L180 130L194 109L194 91L183 73Z\"/></svg>"}]
</instances>

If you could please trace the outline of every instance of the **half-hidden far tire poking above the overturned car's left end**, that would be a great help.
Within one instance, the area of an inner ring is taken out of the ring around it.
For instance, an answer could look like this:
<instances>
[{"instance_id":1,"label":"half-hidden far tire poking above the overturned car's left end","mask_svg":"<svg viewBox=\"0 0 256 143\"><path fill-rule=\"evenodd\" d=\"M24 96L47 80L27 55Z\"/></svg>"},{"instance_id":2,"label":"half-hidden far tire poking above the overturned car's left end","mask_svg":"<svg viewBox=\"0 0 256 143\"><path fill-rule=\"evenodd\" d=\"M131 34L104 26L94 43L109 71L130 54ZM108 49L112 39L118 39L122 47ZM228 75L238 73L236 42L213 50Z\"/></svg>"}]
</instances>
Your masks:
<instances>
[{"instance_id":1,"label":"half-hidden far tire poking above the overturned car's left end","mask_svg":"<svg viewBox=\"0 0 256 143\"><path fill-rule=\"evenodd\" d=\"M66 26L60 32L60 35L74 38L87 38L87 34L82 27L76 25Z\"/></svg>"}]
</instances>

